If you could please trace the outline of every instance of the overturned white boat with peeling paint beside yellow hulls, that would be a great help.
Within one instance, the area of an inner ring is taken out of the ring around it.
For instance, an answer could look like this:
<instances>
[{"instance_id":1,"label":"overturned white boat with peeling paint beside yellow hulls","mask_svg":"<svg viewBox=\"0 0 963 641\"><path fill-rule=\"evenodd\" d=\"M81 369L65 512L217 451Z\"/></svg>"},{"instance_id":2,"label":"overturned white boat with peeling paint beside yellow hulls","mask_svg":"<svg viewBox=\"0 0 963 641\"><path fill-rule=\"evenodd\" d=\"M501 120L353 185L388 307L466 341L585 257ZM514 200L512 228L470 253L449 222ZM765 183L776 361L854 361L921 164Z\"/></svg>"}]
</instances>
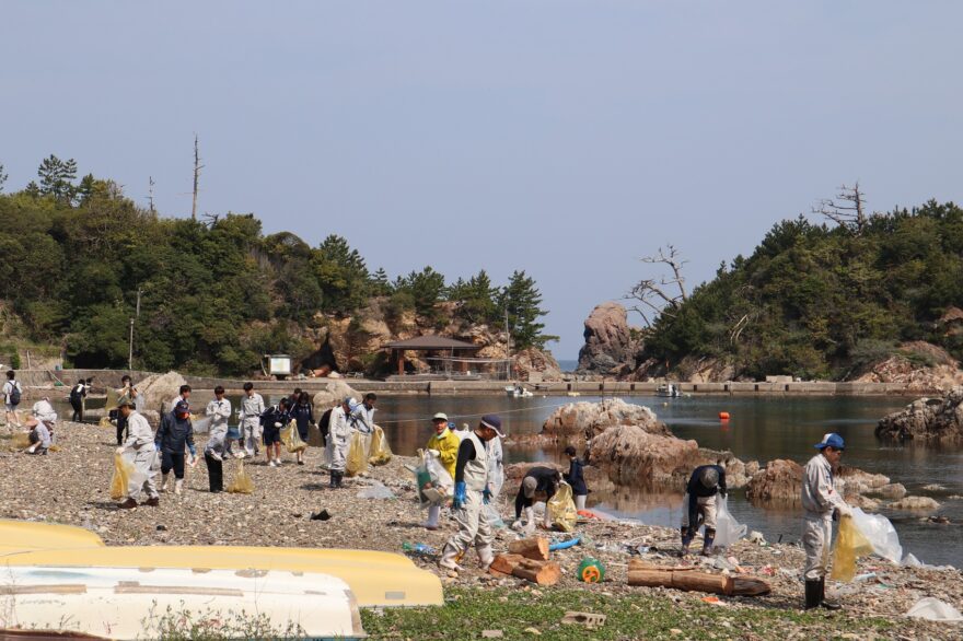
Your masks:
<instances>
[{"instance_id":1,"label":"overturned white boat with peeling paint beside yellow hulls","mask_svg":"<svg viewBox=\"0 0 963 641\"><path fill-rule=\"evenodd\" d=\"M177 626L229 628L242 637L254 630L258 637L295 639L366 637L355 595L329 574L10 567L0 578L0 593L9 601L0 613L0 638L45 630L143 639L171 634Z\"/></svg>"}]
</instances>

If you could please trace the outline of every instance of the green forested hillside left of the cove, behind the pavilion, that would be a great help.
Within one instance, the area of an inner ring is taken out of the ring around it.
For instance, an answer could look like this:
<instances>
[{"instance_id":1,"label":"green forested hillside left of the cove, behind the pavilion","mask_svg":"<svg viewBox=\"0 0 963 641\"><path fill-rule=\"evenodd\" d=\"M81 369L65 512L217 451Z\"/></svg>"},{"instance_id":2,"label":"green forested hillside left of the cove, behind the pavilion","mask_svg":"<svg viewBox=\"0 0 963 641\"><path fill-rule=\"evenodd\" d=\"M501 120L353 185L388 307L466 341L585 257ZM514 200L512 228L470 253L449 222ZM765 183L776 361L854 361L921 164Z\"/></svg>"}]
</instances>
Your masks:
<instances>
[{"instance_id":1,"label":"green forested hillside left of the cove, behind the pavilion","mask_svg":"<svg viewBox=\"0 0 963 641\"><path fill-rule=\"evenodd\" d=\"M61 348L68 364L126 366L134 318L136 368L244 374L264 353L306 357L317 348L308 329L372 298L388 316L437 327L445 314L503 326L507 311L518 349L553 338L524 271L504 287L484 270L446 283L430 266L391 280L336 235L312 247L294 233L265 235L253 214L162 218L112 180L78 182L76 162L53 155L37 174L0 194L5 353L28 341ZM4 179L0 165L0 191Z\"/></svg>"}]
</instances>

